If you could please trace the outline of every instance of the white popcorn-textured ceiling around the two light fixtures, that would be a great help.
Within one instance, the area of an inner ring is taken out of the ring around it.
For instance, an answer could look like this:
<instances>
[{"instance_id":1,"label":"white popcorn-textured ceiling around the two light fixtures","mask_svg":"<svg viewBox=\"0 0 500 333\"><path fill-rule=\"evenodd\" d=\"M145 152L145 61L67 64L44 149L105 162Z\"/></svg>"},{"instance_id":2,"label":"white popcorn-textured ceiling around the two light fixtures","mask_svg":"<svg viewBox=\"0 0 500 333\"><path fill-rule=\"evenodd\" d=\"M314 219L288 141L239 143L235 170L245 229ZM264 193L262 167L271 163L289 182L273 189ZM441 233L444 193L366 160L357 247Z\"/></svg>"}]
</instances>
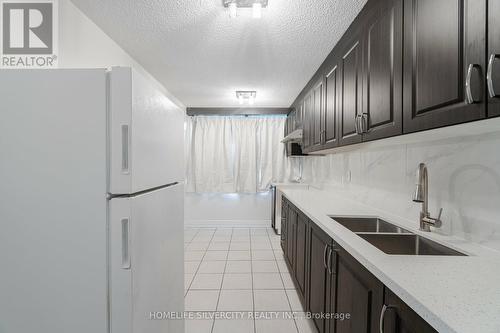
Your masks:
<instances>
[{"instance_id":1,"label":"white popcorn-textured ceiling around the two light fixtures","mask_svg":"<svg viewBox=\"0 0 500 333\"><path fill-rule=\"evenodd\" d=\"M229 18L221 0L72 0L187 106L288 107L366 0L270 0Z\"/></svg>"}]
</instances>

